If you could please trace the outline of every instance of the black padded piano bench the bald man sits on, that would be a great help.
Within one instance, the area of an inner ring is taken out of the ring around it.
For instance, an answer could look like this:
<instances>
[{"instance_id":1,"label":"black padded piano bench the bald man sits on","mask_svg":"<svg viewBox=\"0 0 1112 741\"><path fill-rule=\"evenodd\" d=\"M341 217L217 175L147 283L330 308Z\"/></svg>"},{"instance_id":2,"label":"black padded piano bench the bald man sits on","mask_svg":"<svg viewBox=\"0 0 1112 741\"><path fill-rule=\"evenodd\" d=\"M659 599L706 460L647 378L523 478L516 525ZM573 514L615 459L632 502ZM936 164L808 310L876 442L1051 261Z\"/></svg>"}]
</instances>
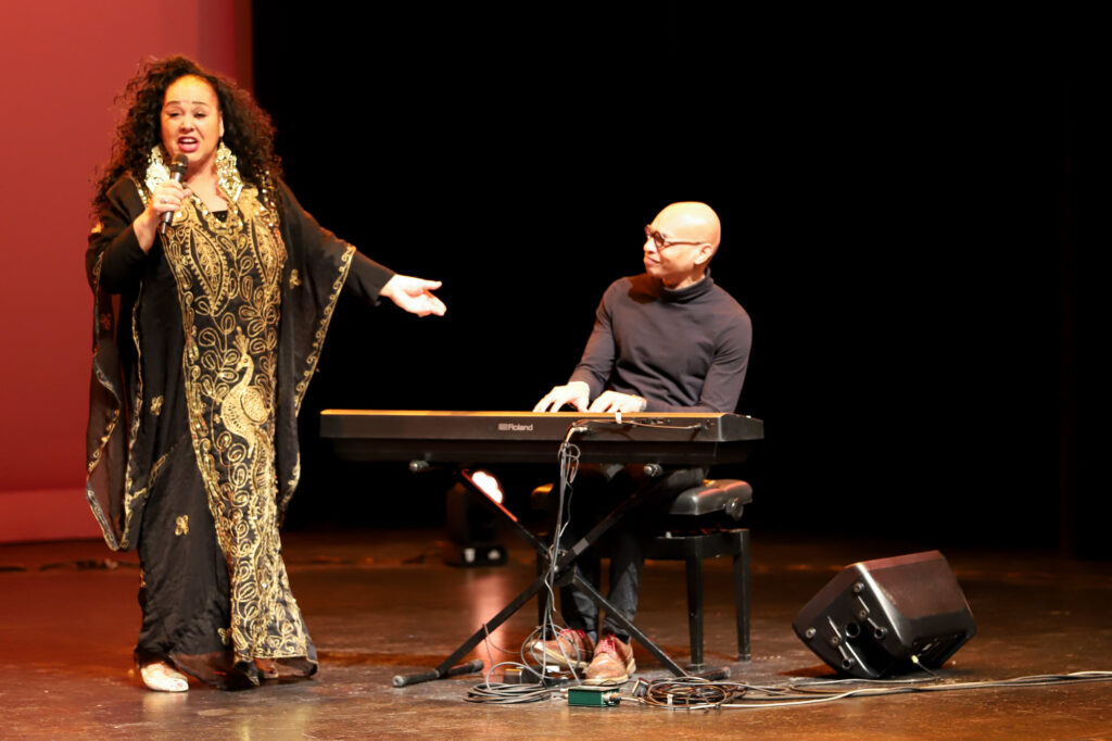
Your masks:
<instances>
[{"instance_id":1,"label":"black padded piano bench the bald man sits on","mask_svg":"<svg viewBox=\"0 0 1112 741\"><path fill-rule=\"evenodd\" d=\"M552 484L533 492L535 510L554 507ZM753 501L753 487L735 478L705 480L662 503L659 535L648 544L645 557L683 561L687 571L687 625L692 669L703 666L703 560L728 555L734 561L734 607L737 621L737 659L748 661L749 648L749 531L737 527L745 505ZM538 573L543 569L537 562ZM539 620L547 609L546 595L538 594Z\"/></svg>"}]
</instances>

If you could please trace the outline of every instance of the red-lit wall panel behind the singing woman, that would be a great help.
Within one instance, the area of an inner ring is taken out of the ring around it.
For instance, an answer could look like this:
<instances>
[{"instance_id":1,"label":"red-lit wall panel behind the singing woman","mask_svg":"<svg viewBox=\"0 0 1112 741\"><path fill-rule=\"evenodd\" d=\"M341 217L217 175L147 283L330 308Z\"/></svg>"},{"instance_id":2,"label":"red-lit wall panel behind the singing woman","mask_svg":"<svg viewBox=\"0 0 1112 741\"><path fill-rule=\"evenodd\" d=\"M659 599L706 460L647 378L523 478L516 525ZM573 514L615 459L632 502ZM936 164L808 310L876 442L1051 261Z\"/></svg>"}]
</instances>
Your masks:
<instances>
[{"instance_id":1,"label":"red-lit wall panel behind the singing woman","mask_svg":"<svg viewBox=\"0 0 1112 741\"><path fill-rule=\"evenodd\" d=\"M83 254L120 113L113 100L142 60L170 53L249 85L250 3L12 7L0 23L0 541L95 536Z\"/></svg>"}]
</instances>

